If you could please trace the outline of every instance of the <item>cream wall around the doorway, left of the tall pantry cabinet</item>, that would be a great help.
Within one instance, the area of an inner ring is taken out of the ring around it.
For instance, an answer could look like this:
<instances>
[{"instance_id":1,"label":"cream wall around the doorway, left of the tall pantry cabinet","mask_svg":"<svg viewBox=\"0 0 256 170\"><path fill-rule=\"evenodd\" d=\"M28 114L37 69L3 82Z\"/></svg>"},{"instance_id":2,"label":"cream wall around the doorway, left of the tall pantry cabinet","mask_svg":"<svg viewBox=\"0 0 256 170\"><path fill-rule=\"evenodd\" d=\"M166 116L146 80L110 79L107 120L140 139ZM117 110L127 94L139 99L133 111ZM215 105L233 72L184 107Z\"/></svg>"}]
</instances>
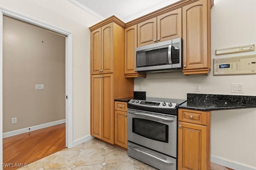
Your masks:
<instances>
[{"instance_id":1,"label":"cream wall around the doorway, left of the tall pantry cabinet","mask_svg":"<svg viewBox=\"0 0 256 170\"><path fill-rule=\"evenodd\" d=\"M2 8L73 33L74 141L90 135L90 30L100 20L66 0L1 0Z\"/></svg>"}]
</instances>

